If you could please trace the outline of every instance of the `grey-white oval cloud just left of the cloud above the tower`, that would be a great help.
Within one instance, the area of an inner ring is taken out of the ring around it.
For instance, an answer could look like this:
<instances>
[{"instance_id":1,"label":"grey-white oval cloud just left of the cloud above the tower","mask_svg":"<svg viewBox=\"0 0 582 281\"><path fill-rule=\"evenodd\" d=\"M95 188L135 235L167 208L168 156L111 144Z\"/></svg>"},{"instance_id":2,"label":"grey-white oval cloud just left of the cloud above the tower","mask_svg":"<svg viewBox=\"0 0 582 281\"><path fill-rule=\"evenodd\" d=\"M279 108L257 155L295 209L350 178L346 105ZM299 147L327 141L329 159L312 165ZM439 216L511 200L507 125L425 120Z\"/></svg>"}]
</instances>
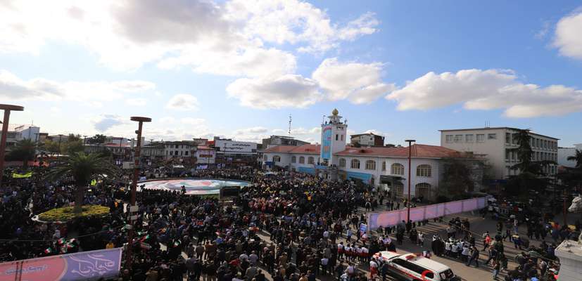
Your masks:
<instances>
[{"instance_id":1,"label":"grey-white oval cloud just left of the cloud above the tower","mask_svg":"<svg viewBox=\"0 0 582 281\"><path fill-rule=\"evenodd\" d=\"M321 99L315 81L293 74L236 79L227 86L227 93L241 105L259 109L307 107Z\"/></svg>"}]
</instances>

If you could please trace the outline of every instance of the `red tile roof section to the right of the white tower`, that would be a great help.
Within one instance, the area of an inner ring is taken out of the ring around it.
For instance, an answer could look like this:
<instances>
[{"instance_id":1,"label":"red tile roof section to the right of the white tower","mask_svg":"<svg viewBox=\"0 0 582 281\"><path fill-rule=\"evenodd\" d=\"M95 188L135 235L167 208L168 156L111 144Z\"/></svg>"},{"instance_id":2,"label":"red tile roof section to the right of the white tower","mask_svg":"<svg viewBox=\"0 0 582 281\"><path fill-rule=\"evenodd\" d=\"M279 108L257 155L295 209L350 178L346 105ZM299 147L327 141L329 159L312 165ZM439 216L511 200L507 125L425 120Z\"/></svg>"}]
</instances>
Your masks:
<instances>
[{"instance_id":1,"label":"red tile roof section to the right of the white tower","mask_svg":"<svg viewBox=\"0 0 582 281\"><path fill-rule=\"evenodd\" d=\"M408 157L408 147L405 148L346 148L336 155L369 155L380 157ZM438 145L412 145L412 157L443 158L461 157L457 150L443 148Z\"/></svg>"}]
</instances>

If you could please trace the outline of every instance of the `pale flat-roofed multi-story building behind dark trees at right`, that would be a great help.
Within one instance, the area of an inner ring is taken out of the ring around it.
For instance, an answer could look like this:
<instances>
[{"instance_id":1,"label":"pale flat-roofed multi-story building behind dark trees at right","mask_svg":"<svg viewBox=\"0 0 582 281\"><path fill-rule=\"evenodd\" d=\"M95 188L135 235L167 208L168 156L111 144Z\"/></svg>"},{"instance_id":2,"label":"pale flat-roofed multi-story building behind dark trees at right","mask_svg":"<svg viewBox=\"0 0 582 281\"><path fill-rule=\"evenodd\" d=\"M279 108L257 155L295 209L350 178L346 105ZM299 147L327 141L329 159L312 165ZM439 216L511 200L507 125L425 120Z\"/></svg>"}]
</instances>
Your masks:
<instances>
[{"instance_id":1,"label":"pale flat-roofed multi-story building behind dark trees at right","mask_svg":"<svg viewBox=\"0 0 582 281\"><path fill-rule=\"evenodd\" d=\"M509 127L485 127L475 129L451 129L441 131L441 146L462 152L471 152L476 155L485 155L488 165L491 166L492 176L496 179L505 179L519 174L518 170L511 169L519 162L517 139L514 134L518 129ZM559 138L543 136L529 132L530 145L533 150L532 161L548 160L557 162ZM557 174L557 165L545 166L543 172L548 175Z\"/></svg>"}]
</instances>

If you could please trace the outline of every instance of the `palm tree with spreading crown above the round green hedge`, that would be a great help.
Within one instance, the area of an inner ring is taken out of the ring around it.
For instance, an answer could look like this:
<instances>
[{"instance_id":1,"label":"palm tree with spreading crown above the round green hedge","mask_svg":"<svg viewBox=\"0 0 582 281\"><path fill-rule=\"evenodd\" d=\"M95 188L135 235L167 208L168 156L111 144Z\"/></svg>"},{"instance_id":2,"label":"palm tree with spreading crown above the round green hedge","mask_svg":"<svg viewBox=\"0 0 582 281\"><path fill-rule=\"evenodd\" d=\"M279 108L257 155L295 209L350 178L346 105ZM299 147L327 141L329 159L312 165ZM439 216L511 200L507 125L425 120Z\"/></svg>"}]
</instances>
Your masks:
<instances>
[{"instance_id":1,"label":"palm tree with spreading crown above the round green hedge","mask_svg":"<svg viewBox=\"0 0 582 281\"><path fill-rule=\"evenodd\" d=\"M85 188L87 188L91 180L97 175L113 176L117 172L118 168L111 164L108 158L95 153L85 154L84 152L78 152L69 155L67 159L61 162L60 166L50 171L46 177L53 181L72 176L76 188L73 212L81 213Z\"/></svg>"}]
</instances>

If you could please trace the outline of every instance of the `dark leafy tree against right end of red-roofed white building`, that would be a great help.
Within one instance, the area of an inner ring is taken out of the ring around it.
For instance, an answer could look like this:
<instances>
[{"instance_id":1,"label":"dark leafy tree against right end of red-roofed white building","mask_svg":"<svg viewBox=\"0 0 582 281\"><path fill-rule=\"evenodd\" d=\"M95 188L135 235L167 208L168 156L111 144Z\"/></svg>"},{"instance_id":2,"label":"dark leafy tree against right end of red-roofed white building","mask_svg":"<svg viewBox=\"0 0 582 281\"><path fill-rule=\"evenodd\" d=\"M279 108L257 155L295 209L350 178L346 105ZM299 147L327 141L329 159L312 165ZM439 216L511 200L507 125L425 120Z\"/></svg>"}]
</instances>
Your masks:
<instances>
[{"instance_id":1,"label":"dark leafy tree against right end of red-roofed white building","mask_svg":"<svg viewBox=\"0 0 582 281\"><path fill-rule=\"evenodd\" d=\"M443 159L443 169L443 183L439 184L443 195L453 198L474 190L475 183L467 162L456 158Z\"/></svg>"}]
</instances>

